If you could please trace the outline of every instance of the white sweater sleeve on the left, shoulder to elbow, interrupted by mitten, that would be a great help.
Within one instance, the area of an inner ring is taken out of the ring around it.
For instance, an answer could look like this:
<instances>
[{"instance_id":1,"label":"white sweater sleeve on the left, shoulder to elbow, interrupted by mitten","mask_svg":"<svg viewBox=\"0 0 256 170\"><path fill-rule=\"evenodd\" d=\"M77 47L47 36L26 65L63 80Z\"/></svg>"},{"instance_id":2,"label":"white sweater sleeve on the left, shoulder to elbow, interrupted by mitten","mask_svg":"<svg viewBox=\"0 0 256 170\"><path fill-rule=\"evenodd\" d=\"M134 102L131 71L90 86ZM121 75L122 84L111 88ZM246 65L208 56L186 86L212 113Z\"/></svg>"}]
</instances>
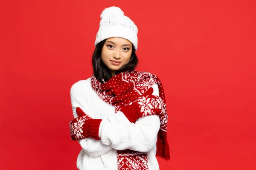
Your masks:
<instances>
[{"instance_id":1,"label":"white sweater sleeve on the left, shoulder to elbow, interrupted by mitten","mask_svg":"<svg viewBox=\"0 0 256 170\"><path fill-rule=\"evenodd\" d=\"M86 99L83 96L83 92L81 91L81 81L76 82L70 89L73 116L78 117L76 113L77 107L81 108L84 113L87 113L89 116L93 116L93 113L92 111L90 111L89 105L87 104ZM95 140L93 138L80 139L79 144L86 153L93 157L101 156L102 154L112 149L110 145L107 146L105 144L102 144L101 140Z\"/></svg>"}]
</instances>

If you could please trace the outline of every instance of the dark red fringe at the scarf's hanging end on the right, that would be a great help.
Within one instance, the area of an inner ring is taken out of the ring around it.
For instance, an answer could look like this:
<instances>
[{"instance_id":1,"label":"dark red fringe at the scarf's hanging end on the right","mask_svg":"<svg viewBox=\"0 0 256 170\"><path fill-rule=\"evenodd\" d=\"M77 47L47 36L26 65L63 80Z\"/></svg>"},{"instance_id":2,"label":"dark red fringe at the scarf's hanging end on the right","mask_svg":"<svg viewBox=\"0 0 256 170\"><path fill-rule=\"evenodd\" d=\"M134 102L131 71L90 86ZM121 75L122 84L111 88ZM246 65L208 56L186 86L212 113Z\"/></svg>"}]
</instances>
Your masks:
<instances>
[{"instance_id":1,"label":"dark red fringe at the scarf's hanging end on the right","mask_svg":"<svg viewBox=\"0 0 256 170\"><path fill-rule=\"evenodd\" d=\"M165 159L166 161L170 160L170 150L169 144L167 141L163 142L161 139L157 139L157 154L160 158Z\"/></svg>"}]
</instances>

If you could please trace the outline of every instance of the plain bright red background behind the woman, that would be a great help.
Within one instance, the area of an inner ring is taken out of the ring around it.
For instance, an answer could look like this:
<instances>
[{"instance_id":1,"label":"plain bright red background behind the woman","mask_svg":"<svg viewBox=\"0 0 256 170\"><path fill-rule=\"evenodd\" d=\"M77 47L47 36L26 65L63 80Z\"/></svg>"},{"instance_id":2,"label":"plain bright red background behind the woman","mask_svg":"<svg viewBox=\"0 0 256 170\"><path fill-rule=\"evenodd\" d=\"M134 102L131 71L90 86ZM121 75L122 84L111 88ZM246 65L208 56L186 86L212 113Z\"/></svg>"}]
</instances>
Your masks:
<instances>
[{"instance_id":1,"label":"plain bright red background behind the woman","mask_svg":"<svg viewBox=\"0 0 256 170\"><path fill-rule=\"evenodd\" d=\"M254 0L23 0L1 8L1 170L75 170L70 88L92 74L102 10L137 25L138 71L163 82L160 170L255 170Z\"/></svg>"}]
</instances>

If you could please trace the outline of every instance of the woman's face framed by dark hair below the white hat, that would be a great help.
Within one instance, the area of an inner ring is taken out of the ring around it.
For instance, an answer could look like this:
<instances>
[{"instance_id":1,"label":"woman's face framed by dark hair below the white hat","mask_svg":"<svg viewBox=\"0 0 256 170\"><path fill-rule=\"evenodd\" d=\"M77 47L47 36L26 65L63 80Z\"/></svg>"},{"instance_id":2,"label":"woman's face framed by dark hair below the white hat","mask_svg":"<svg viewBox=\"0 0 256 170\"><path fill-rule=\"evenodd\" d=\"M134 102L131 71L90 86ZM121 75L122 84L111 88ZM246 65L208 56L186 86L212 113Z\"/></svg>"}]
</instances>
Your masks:
<instances>
[{"instance_id":1,"label":"woman's face framed by dark hair below the white hat","mask_svg":"<svg viewBox=\"0 0 256 170\"><path fill-rule=\"evenodd\" d=\"M110 69L112 76L130 61L132 43L119 37L108 38L102 47L102 62Z\"/></svg>"}]
</instances>

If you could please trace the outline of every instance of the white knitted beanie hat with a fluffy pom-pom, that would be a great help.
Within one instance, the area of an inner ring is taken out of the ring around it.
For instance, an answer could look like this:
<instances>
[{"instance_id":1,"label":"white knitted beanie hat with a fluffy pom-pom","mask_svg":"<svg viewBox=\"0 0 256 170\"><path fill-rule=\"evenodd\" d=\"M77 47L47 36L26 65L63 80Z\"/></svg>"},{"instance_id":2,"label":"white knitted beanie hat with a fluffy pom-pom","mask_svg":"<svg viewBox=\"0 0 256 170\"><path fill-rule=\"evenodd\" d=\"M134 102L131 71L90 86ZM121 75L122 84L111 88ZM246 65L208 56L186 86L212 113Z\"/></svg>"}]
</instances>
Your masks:
<instances>
[{"instance_id":1,"label":"white knitted beanie hat with a fluffy pom-pom","mask_svg":"<svg viewBox=\"0 0 256 170\"><path fill-rule=\"evenodd\" d=\"M138 48L138 28L134 22L124 12L115 6L105 8L100 15L99 31L96 35L94 45L102 40L111 37L121 37L129 40L137 51Z\"/></svg>"}]
</instances>

